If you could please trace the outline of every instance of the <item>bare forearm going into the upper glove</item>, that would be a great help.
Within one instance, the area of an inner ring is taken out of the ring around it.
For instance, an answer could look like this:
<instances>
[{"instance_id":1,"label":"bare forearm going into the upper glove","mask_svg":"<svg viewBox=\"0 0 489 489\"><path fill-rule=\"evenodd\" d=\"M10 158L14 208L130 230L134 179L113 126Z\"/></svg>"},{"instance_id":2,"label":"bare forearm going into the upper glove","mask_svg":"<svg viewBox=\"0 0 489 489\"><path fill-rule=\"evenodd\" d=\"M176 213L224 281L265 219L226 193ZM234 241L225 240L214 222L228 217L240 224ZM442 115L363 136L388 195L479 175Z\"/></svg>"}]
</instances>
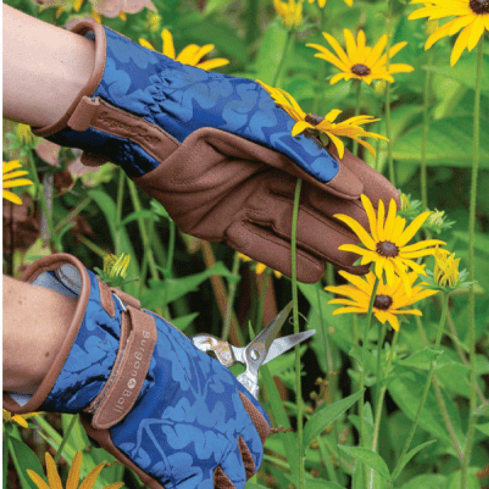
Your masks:
<instances>
[{"instance_id":1,"label":"bare forearm going into the upper glove","mask_svg":"<svg viewBox=\"0 0 489 489\"><path fill-rule=\"evenodd\" d=\"M94 52L89 39L3 4L3 117L57 121L87 83Z\"/></svg>"}]
</instances>

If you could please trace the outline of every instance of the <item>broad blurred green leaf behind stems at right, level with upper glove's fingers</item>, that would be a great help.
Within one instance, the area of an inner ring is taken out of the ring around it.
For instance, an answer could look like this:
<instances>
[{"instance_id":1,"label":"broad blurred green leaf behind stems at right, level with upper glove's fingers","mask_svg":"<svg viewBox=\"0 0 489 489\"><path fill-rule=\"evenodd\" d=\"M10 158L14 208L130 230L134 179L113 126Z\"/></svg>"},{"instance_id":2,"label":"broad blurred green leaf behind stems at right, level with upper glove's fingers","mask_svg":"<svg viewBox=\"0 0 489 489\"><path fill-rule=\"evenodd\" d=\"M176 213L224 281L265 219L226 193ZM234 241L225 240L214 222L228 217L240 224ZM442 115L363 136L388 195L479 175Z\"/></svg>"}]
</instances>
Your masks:
<instances>
[{"instance_id":1,"label":"broad blurred green leaf behind stems at right, level with upper glove's fingers","mask_svg":"<svg viewBox=\"0 0 489 489\"><path fill-rule=\"evenodd\" d=\"M472 166L472 119L445 118L431 122L428 130L426 164L428 166ZM422 125L401 136L394 145L394 159L419 164ZM489 138L480 138L480 168L489 169Z\"/></svg>"}]
</instances>

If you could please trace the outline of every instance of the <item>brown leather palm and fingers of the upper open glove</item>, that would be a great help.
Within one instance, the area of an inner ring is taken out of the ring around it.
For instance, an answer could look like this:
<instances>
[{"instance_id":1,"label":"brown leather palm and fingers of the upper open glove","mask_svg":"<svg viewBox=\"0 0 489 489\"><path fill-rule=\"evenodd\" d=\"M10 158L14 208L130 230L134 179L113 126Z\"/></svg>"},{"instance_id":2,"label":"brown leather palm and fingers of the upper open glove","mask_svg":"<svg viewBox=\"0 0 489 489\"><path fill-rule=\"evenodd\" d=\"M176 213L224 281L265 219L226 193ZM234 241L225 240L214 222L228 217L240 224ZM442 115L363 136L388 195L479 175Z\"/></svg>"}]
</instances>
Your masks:
<instances>
[{"instance_id":1,"label":"brown leather palm and fingers of the upper open glove","mask_svg":"<svg viewBox=\"0 0 489 489\"><path fill-rule=\"evenodd\" d=\"M395 187L363 160L345 151L338 161L338 174L321 183L276 151L202 128L134 181L164 205L185 233L226 243L290 276L293 196L302 178L297 278L312 283L321 278L325 261L352 273L366 272L353 266L357 255L338 251L340 244L358 239L334 214L348 214L367 226L360 194L374 205L379 199L399 203Z\"/></svg>"}]
</instances>

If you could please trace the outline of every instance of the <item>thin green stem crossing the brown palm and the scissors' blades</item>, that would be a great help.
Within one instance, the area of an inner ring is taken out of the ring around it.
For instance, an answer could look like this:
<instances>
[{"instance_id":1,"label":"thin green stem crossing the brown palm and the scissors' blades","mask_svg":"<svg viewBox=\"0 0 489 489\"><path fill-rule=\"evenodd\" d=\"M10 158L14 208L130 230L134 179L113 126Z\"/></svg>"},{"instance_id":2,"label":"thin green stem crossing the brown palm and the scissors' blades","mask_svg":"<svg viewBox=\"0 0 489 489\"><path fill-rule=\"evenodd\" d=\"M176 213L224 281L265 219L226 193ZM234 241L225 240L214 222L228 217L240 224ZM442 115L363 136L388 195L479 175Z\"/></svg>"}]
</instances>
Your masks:
<instances>
[{"instance_id":1,"label":"thin green stem crossing the brown palm and the scissors' blades","mask_svg":"<svg viewBox=\"0 0 489 489\"><path fill-rule=\"evenodd\" d=\"M298 310L298 290L297 290L297 216L299 214L299 198L301 194L302 179L297 179L294 193L294 206L292 210L292 232L290 237L291 247L291 267L292 267L292 314L294 323L294 333L299 333L299 310ZM297 445L299 453L299 489L305 489L305 469L304 454L302 453L303 439L303 400L301 383L301 356L299 345L295 346L295 389L297 398Z\"/></svg>"}]
</instances>

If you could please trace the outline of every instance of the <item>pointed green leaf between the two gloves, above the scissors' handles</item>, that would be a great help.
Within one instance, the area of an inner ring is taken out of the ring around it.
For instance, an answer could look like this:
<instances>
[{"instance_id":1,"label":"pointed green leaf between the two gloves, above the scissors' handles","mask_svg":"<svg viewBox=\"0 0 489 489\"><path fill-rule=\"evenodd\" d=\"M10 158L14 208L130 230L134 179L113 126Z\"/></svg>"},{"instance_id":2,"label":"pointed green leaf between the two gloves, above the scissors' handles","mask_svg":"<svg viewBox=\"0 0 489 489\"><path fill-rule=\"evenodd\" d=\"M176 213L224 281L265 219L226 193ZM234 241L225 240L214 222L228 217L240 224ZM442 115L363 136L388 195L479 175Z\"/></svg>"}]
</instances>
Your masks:
<instances>
[{"instance_id":1,"label":"pointed green leaf between the two gloves, above the scissors' handles","mask_svg":"<svg viewBox=\"0 0 489 489\"><path fill-rule=\"evenodd\" d=\"M187 275L180 278L166 278L162 281L150 280L150 289L146 290L141 297L141 303L147 309L156 309L162 304L169 304L183 297L188 292L197 290L199 285L213 275L232 278L229 269L222 263L217 262L213 267L206 268L200 273Z\"/></svg>"}]
</instances>

